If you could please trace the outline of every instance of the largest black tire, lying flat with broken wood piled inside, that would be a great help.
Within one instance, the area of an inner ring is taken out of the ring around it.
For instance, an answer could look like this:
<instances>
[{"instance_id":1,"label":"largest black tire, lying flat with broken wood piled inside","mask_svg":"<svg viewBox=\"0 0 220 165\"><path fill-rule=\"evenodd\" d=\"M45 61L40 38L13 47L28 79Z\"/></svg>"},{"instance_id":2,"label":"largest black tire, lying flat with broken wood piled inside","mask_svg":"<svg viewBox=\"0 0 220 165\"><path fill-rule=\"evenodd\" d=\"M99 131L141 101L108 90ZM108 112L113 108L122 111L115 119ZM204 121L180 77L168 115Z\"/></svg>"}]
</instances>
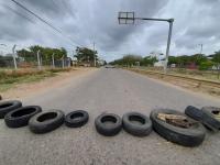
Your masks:
<instances>
[{"instance_id":1,"label":"largest black tire, lying flat with broken wood piled inside","mask_svg":"<svg viewBox=\"0 0 220 165\"><path fill-rule=\"evenodd\" d=\"M151 112L151 120L153 123L153 129L167 141L177 143L184 146L198 146L202 143L205 139L205 130L199 122L196 122L189 128L180 128L169 124L163 120L157 119L158 113L167 114L180 114L182 112L169 109L158 109ZM187 117L187 116L185 116ZM195 120L187 118L188 121L195 122Z\"/></svg>"}]
</instances>

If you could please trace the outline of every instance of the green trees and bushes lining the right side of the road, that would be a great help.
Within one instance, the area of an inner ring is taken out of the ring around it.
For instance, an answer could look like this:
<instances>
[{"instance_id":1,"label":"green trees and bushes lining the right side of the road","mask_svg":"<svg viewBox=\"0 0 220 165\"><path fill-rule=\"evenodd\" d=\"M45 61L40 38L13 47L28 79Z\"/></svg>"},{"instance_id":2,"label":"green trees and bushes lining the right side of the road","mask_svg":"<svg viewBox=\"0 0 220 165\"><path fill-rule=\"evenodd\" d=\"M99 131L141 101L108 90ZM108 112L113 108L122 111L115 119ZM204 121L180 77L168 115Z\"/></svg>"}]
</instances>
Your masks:
<instances>
[{"instance_id":1,"label":"green trees and bushes lining the right side of the road","mask_svg":"<svg viewBox=\"0 0 220 165\"><path fill-rule=\"evenodd\" d=\"M155 66L157 56L125 55L122 58L111 62L111 65L121 67L141 67L144 69L163 72L163 66ZM162 58L161 62L164 59ZM211 55L195 54L169 56L168 73L180 74L189 77L220 80L220 51Z\"/></svg>"}]
</instances>

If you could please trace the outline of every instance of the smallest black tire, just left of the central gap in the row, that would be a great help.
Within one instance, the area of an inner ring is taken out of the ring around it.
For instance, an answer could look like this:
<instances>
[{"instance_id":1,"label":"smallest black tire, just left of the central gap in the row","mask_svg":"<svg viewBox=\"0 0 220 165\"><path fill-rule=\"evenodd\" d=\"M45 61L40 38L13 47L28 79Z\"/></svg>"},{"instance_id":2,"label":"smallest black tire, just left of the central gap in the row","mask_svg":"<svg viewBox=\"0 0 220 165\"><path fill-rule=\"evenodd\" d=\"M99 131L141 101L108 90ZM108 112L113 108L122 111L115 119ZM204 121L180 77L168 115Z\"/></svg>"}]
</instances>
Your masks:
<instances>
[{"instance_id":1,"label":"smallest black tire, just left of the central gap in the row","mask_svg":"<svg viewBox=\"0 0 220 165\"><path fill-rule=\"evenodd\" d=\"M65 124L69 128L79 128L85 125L89 120L88 112L84 110L73 111L65 117Z\"/></svg>"}]
</instances>

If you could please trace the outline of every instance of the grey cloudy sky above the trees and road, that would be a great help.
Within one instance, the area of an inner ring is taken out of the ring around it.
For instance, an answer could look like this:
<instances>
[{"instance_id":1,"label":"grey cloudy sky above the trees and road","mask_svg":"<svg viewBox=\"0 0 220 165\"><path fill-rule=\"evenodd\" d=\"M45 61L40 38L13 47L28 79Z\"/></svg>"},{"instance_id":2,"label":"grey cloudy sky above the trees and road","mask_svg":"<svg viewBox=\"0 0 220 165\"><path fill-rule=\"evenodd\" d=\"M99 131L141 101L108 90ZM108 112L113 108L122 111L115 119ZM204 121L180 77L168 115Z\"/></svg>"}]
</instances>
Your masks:
<instances>
[{"instance_id":1,"label":"grey cloudy sky above the trees and road","mask_svg":"<svg viewBox=\"0 0 220 165\"><path fill-rule=\"evenodd\" d=\"M220 50L220 0L16 0L41 15L62 34L51 29L11 0L0 0L0 52L9 53L33 44L65 47L69 56L77 45L96 48L99 56L112 61L123 54L142 56L165 53L167 22L119 25L119 11L136 16L174 18L170 54L195 54Z\"/></svg>"}]
</instances>

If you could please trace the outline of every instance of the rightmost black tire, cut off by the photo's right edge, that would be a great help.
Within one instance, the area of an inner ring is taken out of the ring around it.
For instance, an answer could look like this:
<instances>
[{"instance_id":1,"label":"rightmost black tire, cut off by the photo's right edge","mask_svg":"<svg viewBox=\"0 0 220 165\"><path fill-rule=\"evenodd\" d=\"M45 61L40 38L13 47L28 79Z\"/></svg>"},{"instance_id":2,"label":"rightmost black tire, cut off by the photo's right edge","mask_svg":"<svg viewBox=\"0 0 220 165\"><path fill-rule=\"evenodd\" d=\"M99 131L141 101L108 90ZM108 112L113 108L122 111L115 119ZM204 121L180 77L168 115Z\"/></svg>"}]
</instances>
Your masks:
<instances>
[{"instance_id":1,"label":"rightmost black tire, cut off by the photo's right edge","mask_svg":"<svg viewBox=\"0 0 220 165\"><path fill-rule=\"evenodd\" d=\"M202 107L201 111L204 113L202 123L212 131L220 130L220 120L216 118L216 114L220 116L220 108Z\"/></svg>"}]
</instances>

